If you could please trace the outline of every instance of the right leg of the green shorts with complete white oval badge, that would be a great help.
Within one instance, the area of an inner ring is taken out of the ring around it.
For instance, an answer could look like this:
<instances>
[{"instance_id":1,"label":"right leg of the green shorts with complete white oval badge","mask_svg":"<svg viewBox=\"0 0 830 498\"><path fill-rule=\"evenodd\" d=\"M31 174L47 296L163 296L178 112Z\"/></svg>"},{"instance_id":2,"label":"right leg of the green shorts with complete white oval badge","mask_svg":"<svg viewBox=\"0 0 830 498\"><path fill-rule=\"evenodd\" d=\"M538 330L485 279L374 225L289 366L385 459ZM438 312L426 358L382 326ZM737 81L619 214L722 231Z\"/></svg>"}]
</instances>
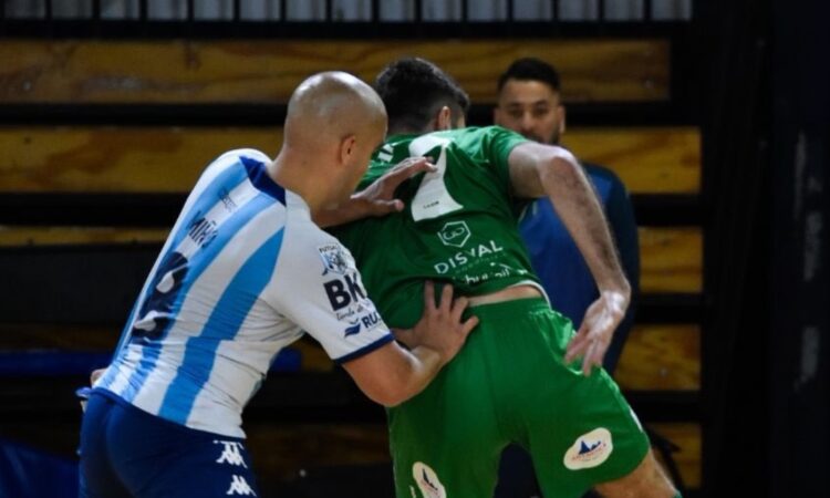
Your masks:
<instances>
[{"instance_id":1,"label":"right leg of the green shorts with complete white oval badge","mask_svg":"<svg viewBox=\"0 0 830 498\"><path fill-rule=\"evenodd\" d=\"M639 468L649 438L614 381L601 369L590 376L581 363L563 364L571 323L556 313L537 313L539 344L527 354L544 357L530 375L549 381L536 386L528 415L528 449L546 498L580 497ZM535 336L530 336L533 339ZM535 340L535 339L533 339Z\"/></svg>"}]
</instances>

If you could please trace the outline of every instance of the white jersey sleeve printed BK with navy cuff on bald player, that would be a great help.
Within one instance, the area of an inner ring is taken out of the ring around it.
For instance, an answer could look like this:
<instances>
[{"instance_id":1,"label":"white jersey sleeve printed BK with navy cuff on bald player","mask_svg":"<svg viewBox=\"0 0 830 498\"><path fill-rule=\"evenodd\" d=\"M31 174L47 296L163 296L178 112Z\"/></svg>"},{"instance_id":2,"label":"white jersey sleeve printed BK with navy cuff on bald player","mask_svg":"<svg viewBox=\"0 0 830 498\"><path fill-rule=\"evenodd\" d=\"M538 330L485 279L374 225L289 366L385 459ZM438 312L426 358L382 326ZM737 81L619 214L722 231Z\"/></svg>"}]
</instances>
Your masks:
<instances>
[{"instance_id":1,"label":"white jersey sleeve printed BK with navy cuff on bald player","mask_svg":"<svg viewBox=\"0 0 830 498\"><path fill-rule=\"evenodd\" d=\"M286 228L271 299L278 312L344 363L393 340L369 299L354 258L311 222Z\"/></svg>"}]
</instances>

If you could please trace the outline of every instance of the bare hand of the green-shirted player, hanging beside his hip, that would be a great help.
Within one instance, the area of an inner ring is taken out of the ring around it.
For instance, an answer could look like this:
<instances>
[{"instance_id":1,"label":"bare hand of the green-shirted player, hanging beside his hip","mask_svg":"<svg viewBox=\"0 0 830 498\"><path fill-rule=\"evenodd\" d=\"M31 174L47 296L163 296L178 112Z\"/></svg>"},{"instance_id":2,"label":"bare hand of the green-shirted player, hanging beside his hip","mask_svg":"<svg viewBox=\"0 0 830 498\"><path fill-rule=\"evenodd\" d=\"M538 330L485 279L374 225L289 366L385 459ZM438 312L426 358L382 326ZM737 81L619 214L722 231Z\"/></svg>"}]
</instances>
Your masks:
<instances>
[{"instance_id":1,"label":"bare hand of the green-shirted player, hanging beside his hip","mask_svg":"<svg viewBox=\"0 0 830 498\"><path fill-rule=\"evenodd\" d=\"M618 291L603 291L585 311L582 325L566 349L564 361L582 357L582 373L588 376L594 366L602 366L616 325L625 317L629 297Z\"/></svg>"}]
</instances>

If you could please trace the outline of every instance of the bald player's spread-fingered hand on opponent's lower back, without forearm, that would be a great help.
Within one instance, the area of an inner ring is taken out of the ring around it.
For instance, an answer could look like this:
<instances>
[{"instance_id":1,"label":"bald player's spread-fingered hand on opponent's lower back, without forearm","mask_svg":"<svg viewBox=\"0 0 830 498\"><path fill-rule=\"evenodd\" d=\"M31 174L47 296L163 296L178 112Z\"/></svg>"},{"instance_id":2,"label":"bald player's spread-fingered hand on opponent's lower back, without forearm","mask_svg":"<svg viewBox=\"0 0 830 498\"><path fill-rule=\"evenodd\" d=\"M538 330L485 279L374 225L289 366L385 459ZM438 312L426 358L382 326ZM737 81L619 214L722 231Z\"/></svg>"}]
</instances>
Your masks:
<instances>
[{"instance_id":1,"label":"bald player's spread-fingered hand on opponent's lower back, without forearm","mask_svg":"<svg viewBox=\"0 0 830 498\"><path fill-rule=\"evenodd\" d=\"M426 346L436 351L446 364L460 351L470 331L478 324L477 317L461 321L469 304L467 298L453 300L453 287L444 286L440 302L435 304L435 284L424 284L424 314L413 329L394 330L395 338L407 347Z\"/></svg>"}]
</instances>

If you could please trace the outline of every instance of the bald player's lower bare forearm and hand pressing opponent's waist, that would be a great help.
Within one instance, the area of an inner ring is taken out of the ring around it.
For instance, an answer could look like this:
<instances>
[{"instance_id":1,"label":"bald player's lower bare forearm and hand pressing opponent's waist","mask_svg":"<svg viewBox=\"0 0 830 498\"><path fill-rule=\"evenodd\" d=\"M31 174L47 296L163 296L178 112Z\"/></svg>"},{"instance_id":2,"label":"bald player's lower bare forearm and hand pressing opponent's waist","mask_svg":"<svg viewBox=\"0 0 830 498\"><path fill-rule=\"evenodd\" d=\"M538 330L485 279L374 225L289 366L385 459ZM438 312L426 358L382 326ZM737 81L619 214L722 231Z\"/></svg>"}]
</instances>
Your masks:
<instances>
[{"instance_id":1,"label":"bald player's lower bare forearm and hand pressing opponent's waist","mask_svg":"<svg viewBox=\"0 0 830 498\"><path fill-rule=\"evenodd\" d=\"M478 324L471 317L461 321L466 298L453 301L453 288L444 286L435 304L432 282L424 287L424 314L411 330L397 331L409 350L390 342L377 350L343 363L343 367L372 401L398 405L418 394L461 349Z\"/></svg>"}]
</instances>

